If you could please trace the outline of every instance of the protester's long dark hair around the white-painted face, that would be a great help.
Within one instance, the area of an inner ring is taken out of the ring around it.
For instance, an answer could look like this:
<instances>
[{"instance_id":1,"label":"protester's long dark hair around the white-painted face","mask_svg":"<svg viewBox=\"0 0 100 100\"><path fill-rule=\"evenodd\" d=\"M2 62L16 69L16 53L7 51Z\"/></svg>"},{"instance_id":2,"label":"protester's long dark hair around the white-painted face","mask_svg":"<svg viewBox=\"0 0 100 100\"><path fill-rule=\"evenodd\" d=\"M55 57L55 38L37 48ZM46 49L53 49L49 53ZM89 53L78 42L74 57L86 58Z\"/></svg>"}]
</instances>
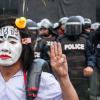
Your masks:
<instances>
[{"instance_id":1,"label":"protester's long dark hair around the white-painted face","mask_svg":"<svg viewBox=\"0 0 100 100\"><path fill-rule=\"evenodd\" d=\"M16 17L8 17L8 16L3 16L0 17L0 28L4 27L4 26L14 26L15 28L17 28L20 31L20 36L21 38L27 38L30 37L29 31L28 29L25 27L23 29L19 29L16 25L15 25L15 20ZM23 69L28 70L28 68L31 66L32 61L33 61L33 52L32 52L32 46L31 43L29 44L22 44L22 54L21 54L21 60L23 63Z\"/></svg>"}]
</instances>

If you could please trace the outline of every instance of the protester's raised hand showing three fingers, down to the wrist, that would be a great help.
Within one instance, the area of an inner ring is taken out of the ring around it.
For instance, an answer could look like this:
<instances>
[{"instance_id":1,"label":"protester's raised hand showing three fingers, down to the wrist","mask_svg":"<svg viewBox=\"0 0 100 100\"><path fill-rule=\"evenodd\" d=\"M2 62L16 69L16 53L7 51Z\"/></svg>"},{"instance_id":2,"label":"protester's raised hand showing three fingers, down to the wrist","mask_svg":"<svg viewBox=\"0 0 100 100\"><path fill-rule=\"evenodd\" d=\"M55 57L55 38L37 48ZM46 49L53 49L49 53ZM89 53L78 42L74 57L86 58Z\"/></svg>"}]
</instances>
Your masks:
<instances>
[{"instance_id":1,"label":"protester's raised hand showing three fingers, down to the wrist","mask_svg":"<svg viewBox=\"0 0 100 100\"><path fill-rule=\"evenodd\" d=\"M60 43L54 42L50 48L51 66L54 73L58 77L66 77L68 75L68 64Z\"/></svg>"}]
</instances>

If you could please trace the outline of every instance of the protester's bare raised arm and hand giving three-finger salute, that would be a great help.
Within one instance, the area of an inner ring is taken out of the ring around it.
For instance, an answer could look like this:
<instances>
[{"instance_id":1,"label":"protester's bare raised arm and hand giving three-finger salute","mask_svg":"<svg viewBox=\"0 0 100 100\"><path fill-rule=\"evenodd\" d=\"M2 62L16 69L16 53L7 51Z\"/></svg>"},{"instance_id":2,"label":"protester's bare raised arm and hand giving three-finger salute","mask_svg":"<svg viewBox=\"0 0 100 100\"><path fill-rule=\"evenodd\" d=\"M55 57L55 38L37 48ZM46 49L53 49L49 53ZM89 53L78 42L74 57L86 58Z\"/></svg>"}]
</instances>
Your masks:
<instances>
[{"instance_id":1,"label":"protester's bare raised arm and hand giving three-finger salute","mask_svg":"<svg viewBox=\"0 0 100 100\"><path fill-rule=\"evenodd\" d=\"M79 100L78 95L70 82L67 59L66 56L62 54L60 43L54 42L54 44L51 45L50 56L52 69L57 75L60 87L62 89L62 99Z\"/></svg>"}]
</instances>

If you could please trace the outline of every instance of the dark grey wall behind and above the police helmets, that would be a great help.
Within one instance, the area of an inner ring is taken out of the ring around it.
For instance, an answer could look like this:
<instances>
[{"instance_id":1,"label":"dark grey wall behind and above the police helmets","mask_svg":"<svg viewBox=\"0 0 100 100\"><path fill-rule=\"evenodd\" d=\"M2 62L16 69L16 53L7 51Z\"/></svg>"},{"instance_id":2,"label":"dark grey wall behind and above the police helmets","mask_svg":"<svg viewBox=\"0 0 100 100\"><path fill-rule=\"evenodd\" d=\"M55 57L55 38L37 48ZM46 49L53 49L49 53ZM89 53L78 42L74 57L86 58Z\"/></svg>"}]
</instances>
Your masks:
<instances>
[{"instance_id":1,"label":"dark grey wall behind and above the police helmets","mask_svg":"<svg viewBox=\"0 0 100 100\"><path fill-rule=\"evenodd\" d=\"M81 15L100 21L100 0L0 0L0 15L26 16L38 22L55 22L63 16Z\"/></svg>"}]
</instances>

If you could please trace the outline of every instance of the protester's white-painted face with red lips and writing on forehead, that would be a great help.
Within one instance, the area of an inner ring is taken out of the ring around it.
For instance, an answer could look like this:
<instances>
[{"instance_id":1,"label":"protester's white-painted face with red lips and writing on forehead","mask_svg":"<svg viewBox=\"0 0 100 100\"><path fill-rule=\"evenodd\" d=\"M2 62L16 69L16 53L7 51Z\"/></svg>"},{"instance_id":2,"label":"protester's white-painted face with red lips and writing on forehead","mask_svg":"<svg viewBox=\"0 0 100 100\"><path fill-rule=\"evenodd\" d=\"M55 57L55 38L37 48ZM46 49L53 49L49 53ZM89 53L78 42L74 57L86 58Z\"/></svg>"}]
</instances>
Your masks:
<instances>
[{"instance_id":1,"label":"protester's white-painted face with red lips and writing on forehead","mask_svg":"<svg viewBox=\"0 0 100 100\"><path fill-rule=\"evenodd\" d=\"M19 30L13 26L0 29L0 65L10 66L18 61L22 52Z\"/></svg>"}]
</instances>

